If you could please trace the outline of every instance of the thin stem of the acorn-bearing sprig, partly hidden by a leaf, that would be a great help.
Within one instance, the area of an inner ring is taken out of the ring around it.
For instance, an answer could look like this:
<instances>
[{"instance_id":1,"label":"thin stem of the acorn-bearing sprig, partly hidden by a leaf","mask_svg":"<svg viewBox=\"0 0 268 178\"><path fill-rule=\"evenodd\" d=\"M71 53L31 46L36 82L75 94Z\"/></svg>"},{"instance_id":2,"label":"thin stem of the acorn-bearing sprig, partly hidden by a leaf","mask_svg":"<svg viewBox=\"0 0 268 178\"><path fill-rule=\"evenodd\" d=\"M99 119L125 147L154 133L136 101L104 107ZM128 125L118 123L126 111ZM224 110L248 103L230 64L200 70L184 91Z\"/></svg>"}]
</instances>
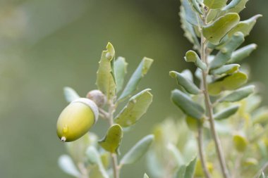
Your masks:
<instances>
[{"instance_id":1,"label":"thin stem of the acorn-bearing sprig, partly hidden by a leaf","mask_svg":"<svg viewBox=\"0 0 268 178\"><path fill-rule=\"evenodd\" d=\"M110 127L114 125L114 102L111 100L109 102L109 125ZM111 153L111 162L113 165L114 178L119 178L119 169L118 169L118 161L116 153Z\"/></svg>"}]
</instances>

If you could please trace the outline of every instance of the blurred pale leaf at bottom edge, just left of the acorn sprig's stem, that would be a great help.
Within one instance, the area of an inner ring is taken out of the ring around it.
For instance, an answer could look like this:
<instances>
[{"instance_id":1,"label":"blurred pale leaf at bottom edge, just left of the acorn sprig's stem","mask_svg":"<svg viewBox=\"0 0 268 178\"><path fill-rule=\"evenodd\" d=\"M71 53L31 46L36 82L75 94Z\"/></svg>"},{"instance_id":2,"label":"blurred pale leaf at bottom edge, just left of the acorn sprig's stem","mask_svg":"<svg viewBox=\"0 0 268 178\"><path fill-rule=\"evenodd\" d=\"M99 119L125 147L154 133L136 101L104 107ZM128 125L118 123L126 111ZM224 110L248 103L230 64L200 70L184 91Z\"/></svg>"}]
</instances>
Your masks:
<instances>
[{"instance_id":1,"label":"blurred pale leaf at bottom edge, just left of the acorn sprig's stem","mask_svg":"<svg viewBox=\"0 0 268 178\"><path fill-rule=\"evenodd\" d=\"M100 174L99 176L101 176L99 178L109 178L109 175L107 174L102 164L102 159L99 155L99 152L94 146L89 146L87 148L86 155L87 155L87 160L91 165L97 165L98 173Z\"/></svg>"}]
</instances>

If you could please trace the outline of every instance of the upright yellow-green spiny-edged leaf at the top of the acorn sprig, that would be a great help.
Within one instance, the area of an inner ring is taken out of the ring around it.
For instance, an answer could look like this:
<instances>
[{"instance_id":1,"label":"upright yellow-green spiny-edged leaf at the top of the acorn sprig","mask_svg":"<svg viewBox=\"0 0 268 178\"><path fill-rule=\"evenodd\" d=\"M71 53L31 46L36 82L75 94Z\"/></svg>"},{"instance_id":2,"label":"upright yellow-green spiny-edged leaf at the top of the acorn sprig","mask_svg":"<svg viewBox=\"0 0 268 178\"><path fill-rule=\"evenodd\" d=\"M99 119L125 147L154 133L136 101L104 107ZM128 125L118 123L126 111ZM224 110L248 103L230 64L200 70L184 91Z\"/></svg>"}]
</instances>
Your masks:
<instances>
[{"instance_id":1,"label":"upright yellow-green spiny-edged leaf at the top of the acorn sprig","mask_svg":"<svg viewBox=\"0 0 268 178\"><path fill-rule=\"evenodd\" d=\"M97 87L109 99L116 94L116 80L114 77L114 46L108 43L106 51L102 51L97 71Z\"/></svg>"}]
</instances>

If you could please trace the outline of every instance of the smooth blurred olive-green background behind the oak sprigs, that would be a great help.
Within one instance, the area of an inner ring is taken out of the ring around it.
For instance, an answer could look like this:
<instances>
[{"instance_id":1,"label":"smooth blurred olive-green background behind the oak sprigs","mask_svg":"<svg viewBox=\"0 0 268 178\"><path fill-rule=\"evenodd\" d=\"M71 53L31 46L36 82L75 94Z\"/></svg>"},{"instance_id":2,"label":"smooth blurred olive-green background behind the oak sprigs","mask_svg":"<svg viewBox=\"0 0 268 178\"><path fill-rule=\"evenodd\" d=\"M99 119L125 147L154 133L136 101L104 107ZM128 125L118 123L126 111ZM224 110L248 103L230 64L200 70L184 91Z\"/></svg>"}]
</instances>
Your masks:
<instances>
[{"instance_id":1,"label":"smooth blurred olive-green background behind the oak sprigs","mask_svg":"<svg viewBox=\"0 0 268 178\"><path fill-rule=\"evenodd\" d=\"M257 51L245 63L250 80L262 82L263 103L268 95L268 1L252 0L242 19L258 20L245 44ZM193 70L183 60L191 44L183 37L178 0L0 0L0 177L68 177L57 159L66 153L56 136L56 120L66 106L63 87L80 96L95 89L96 71L107 42L116 56L128 61L128 77L143 56L154 58L140 89L152 88L148 113L123 138L125 153L153 125L180 117L170 102L176 87L169 70ZM103 136L107 125L93 131ZM122 177L142 177L145 159L123 168Z\"/></svg>"}]
</instances>

